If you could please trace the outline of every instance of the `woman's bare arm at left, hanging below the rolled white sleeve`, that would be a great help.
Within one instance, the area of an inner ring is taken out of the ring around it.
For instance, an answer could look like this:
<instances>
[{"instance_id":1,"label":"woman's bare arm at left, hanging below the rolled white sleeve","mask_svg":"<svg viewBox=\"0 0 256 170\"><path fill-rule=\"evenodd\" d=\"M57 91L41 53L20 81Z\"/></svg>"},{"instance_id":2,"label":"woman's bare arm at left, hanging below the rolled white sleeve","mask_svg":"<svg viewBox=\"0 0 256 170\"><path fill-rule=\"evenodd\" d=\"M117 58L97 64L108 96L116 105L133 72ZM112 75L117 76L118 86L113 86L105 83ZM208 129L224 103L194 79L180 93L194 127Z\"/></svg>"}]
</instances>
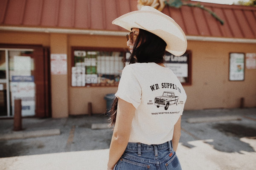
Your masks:
<instances>
[{"instance_id":1,"label":"woman's bare arm at left, hanging below the rolled white sleeve","mask_svg":"<svg viewBox=\"0 0 256 170\"><path fill-rule=\"evenodd\" d=\"M118 99L116 124L111 139L108 159L108 170L113 170L128 144L131 133L131 122L135 114L131 103Z\"/></svg>"}]
</instances>

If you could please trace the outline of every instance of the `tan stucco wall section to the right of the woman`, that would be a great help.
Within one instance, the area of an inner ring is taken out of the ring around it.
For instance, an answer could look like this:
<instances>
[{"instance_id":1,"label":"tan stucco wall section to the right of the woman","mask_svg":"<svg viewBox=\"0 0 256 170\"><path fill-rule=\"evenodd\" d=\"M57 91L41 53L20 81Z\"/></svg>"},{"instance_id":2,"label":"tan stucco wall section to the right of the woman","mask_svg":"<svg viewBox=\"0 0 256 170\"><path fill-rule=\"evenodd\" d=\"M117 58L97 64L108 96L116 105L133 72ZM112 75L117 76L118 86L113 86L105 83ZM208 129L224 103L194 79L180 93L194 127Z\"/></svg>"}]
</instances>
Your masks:
<instances>
[{"instance_id":1,"label":"tan stucco wall section to the right of the woman","mask_svg":"<svg viewBox=\"0 0 256 170\"><path fill-rule=\"evenodd\" d=\"M244 81L229 81L229 53L256 53L256 44L189 41L192 85L185 86L186 109L256 106L256 69L245 67Z\"/></svg>"}]
</instances>

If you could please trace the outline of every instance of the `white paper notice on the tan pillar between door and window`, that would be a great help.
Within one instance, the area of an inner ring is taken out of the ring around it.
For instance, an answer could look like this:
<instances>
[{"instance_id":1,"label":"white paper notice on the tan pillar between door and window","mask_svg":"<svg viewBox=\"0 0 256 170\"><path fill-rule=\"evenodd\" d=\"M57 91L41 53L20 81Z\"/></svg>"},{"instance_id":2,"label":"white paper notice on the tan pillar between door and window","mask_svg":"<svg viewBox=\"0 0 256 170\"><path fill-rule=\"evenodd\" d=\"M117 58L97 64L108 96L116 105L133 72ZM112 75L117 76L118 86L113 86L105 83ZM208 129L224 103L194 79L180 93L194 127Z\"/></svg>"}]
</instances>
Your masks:
<instances>
[{"instance_id":1,"label":"white paper notice on the tan pillar between door and window","mask_svg":"<svg viewBox=\"0 0 256 170\"><path fill-rule=\"evenodd\" d=\"M51 74L67 74L67 54L51 54Z\"/></svg>"}]
</instances>

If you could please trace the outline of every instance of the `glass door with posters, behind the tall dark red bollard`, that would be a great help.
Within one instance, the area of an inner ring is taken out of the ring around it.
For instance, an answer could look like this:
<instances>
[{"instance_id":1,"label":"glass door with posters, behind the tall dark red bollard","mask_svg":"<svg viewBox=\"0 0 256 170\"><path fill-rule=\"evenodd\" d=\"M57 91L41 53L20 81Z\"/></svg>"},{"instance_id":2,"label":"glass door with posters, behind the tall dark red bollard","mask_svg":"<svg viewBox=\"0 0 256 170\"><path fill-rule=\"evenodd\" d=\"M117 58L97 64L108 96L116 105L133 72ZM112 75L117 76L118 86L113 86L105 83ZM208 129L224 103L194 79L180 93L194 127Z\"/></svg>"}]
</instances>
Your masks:
<instances>
[{"instance_id":1,"label":"glass door with posters, behind the tall dark red bollard","mask_svg":"<svg viewBox=\"0 0 256 170\"><path fill-rule=\"evenodd\" d=\"M35 115L34 59L32 51L9 51L9 81L12 115L14 100L21 99L22 116Z\"/></svg>"}]
</instances>

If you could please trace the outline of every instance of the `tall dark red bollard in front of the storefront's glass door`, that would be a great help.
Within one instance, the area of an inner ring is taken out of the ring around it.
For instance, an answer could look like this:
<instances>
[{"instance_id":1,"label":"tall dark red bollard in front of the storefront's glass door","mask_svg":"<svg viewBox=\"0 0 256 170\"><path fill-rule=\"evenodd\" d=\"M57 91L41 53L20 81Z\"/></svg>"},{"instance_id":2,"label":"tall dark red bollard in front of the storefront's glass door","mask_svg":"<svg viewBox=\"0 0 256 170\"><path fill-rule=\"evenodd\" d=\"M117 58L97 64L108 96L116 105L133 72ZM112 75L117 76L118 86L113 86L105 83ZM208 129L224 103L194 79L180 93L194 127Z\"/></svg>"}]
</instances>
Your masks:
<instances>
[{"instance_id":1,"label":"tall dark red bollard in front of the storefront's glass door","mask_svg":"<svg viewBox=\"0 0 256 170\"><path fill-rule=\"evenodd\" d=\"M21 99L14 100L14 127L13 130L22 130L22 122L21 122Z\"/></svg>"}]
</instances>

